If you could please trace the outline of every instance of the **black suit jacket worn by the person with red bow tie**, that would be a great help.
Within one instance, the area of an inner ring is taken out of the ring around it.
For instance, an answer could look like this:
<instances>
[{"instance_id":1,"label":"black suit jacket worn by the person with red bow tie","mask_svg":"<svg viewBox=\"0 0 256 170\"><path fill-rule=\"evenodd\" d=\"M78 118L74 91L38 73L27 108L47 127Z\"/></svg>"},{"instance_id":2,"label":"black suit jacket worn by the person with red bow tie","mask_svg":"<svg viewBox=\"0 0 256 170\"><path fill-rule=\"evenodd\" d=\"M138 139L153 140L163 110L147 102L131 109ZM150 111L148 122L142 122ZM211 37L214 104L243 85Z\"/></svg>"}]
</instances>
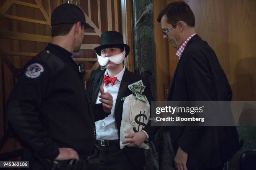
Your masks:
<instances>
[{"instance_id":1,"label":"black suit jacket worn by the person with red bow tie","mask_svg":"<svg viewBox=\"0 0 256 170\"><path fill-rule=\"evenodd\" d=\"M102 84L102 80L104 77L105 70L96 70L91 73L90 76L90 84L89 84L89 89L88 91L91 93L91 98L92 98L92 103L96 102L97 95L99 93L99 88L100 85ZM128 71L125 68L125 72L123 74L123 78L120 84L120 88L118 91L118 96L116 99L115 103L115 122L118 127L118 136L120 138L120 126L121 126L121 120L122 120L122 113L123 113L123 102L121 99L123 97L126 97L128 95L131 95L132 92L131 90L128 89L128 85L137 82L139 80L142 80L143 85L146 86L145 91L143 94L147 97L148 102L151 103L152 100L154 100L154 97L152 96L150 86L149 86L149 81L146 80L145 78L141 77L140 75L136 75L133 72ZM156 133L157 128L156 127L151 127L151 123L148 122L147 126L143 129L145 130L149 138L154 138L154 135ZM141 170L145 164L145 155L144 155L144 150L141 148L136 148L136 147L125 147L124 151L126 155L128 156L129 160L135 165L136 168Z\"/></svg>"}]
</instances>

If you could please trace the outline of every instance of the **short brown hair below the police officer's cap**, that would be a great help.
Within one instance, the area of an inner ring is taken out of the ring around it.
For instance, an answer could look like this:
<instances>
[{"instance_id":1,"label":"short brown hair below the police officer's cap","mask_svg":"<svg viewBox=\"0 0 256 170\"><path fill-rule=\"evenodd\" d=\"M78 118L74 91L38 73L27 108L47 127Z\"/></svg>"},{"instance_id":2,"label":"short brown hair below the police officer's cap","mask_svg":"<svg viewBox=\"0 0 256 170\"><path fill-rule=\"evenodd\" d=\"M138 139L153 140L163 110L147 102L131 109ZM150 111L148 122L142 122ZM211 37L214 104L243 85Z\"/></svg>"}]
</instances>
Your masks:
<instances>
[{"instance_id":1,"label":"short brown hair below the police officer's cap","mask_svg":"<svg viewBox=\"0 0 256 170\"><path fill-rule=\"evenodd\" d=\"M68 35L74 24L57 24L51 27L51 37ZM81 29L83 25L81 24Z\"/></svg>"}]
</instances>

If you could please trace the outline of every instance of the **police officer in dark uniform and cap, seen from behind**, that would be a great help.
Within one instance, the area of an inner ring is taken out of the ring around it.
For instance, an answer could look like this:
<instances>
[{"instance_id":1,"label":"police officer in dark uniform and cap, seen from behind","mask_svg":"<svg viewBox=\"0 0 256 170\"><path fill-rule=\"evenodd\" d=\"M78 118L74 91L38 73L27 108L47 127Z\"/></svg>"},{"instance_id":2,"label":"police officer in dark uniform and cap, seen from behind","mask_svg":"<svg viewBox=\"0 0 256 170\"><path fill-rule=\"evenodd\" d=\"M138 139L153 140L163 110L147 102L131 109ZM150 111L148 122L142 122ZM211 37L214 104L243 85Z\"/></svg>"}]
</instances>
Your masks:
<instances>
[{"instance_id":1,"label":"police officer in dark uniform and cap, seen from behind","mask_svg":"<svg viewBox=\"0 0 256 170\"><path fill-rule=\"evenodd\" d=\"M100 87L102 103L90 107L72 60L84 29L92 28L82 9L68 3L56 7L51 26L51 43L25 65L10 94L8 120L24 143L22 160L31 170L67 169L69 163L84 170L95 145L94 121L108 116L113 100Z\"/></svg>"}]
</instances>

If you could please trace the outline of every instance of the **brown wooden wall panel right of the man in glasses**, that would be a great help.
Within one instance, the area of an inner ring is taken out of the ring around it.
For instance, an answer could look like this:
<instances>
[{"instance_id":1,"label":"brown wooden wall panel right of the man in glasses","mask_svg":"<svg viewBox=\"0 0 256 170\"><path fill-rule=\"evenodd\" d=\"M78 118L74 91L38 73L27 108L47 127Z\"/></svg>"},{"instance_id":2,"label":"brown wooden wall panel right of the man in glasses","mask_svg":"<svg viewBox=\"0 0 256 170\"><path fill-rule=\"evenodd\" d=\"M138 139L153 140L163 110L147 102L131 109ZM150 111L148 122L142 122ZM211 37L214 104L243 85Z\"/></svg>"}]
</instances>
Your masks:
<instances>
[{"instance_id":1,"label":"brown wooden wall panel right of the man in glasses","mask_svg":"<svg viewBox=\"0 0 256 170\"><path fill-rule=\"evenodd\" d=\"M194 0L196 31L215 50L233 100L256 100L256 1Z\"/></svg>"}]
</instances>

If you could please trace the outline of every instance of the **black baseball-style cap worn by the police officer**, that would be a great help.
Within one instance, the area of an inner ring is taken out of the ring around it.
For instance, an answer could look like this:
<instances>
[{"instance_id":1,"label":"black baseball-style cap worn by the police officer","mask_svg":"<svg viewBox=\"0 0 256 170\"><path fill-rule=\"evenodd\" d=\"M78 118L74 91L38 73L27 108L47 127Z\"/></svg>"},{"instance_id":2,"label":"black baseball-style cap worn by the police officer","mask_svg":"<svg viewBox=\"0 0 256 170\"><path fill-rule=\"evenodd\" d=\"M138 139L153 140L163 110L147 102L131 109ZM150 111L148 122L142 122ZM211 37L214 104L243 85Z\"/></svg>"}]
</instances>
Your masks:
<instances>
[{"instance_id":1,"label":"black baseball-style cap worn by the police officer","mask_svg":"<svg viewBox=\"0 0 256 170\"><path fill-rule=\"evenodd\" d=\"M81 8L76 5L64 3L54 9L51 14L51 26L57 24L73 24L81 22L85 29L91 28L92 26L85 22L84 12Z\"/></svg>"}]
</instances>

